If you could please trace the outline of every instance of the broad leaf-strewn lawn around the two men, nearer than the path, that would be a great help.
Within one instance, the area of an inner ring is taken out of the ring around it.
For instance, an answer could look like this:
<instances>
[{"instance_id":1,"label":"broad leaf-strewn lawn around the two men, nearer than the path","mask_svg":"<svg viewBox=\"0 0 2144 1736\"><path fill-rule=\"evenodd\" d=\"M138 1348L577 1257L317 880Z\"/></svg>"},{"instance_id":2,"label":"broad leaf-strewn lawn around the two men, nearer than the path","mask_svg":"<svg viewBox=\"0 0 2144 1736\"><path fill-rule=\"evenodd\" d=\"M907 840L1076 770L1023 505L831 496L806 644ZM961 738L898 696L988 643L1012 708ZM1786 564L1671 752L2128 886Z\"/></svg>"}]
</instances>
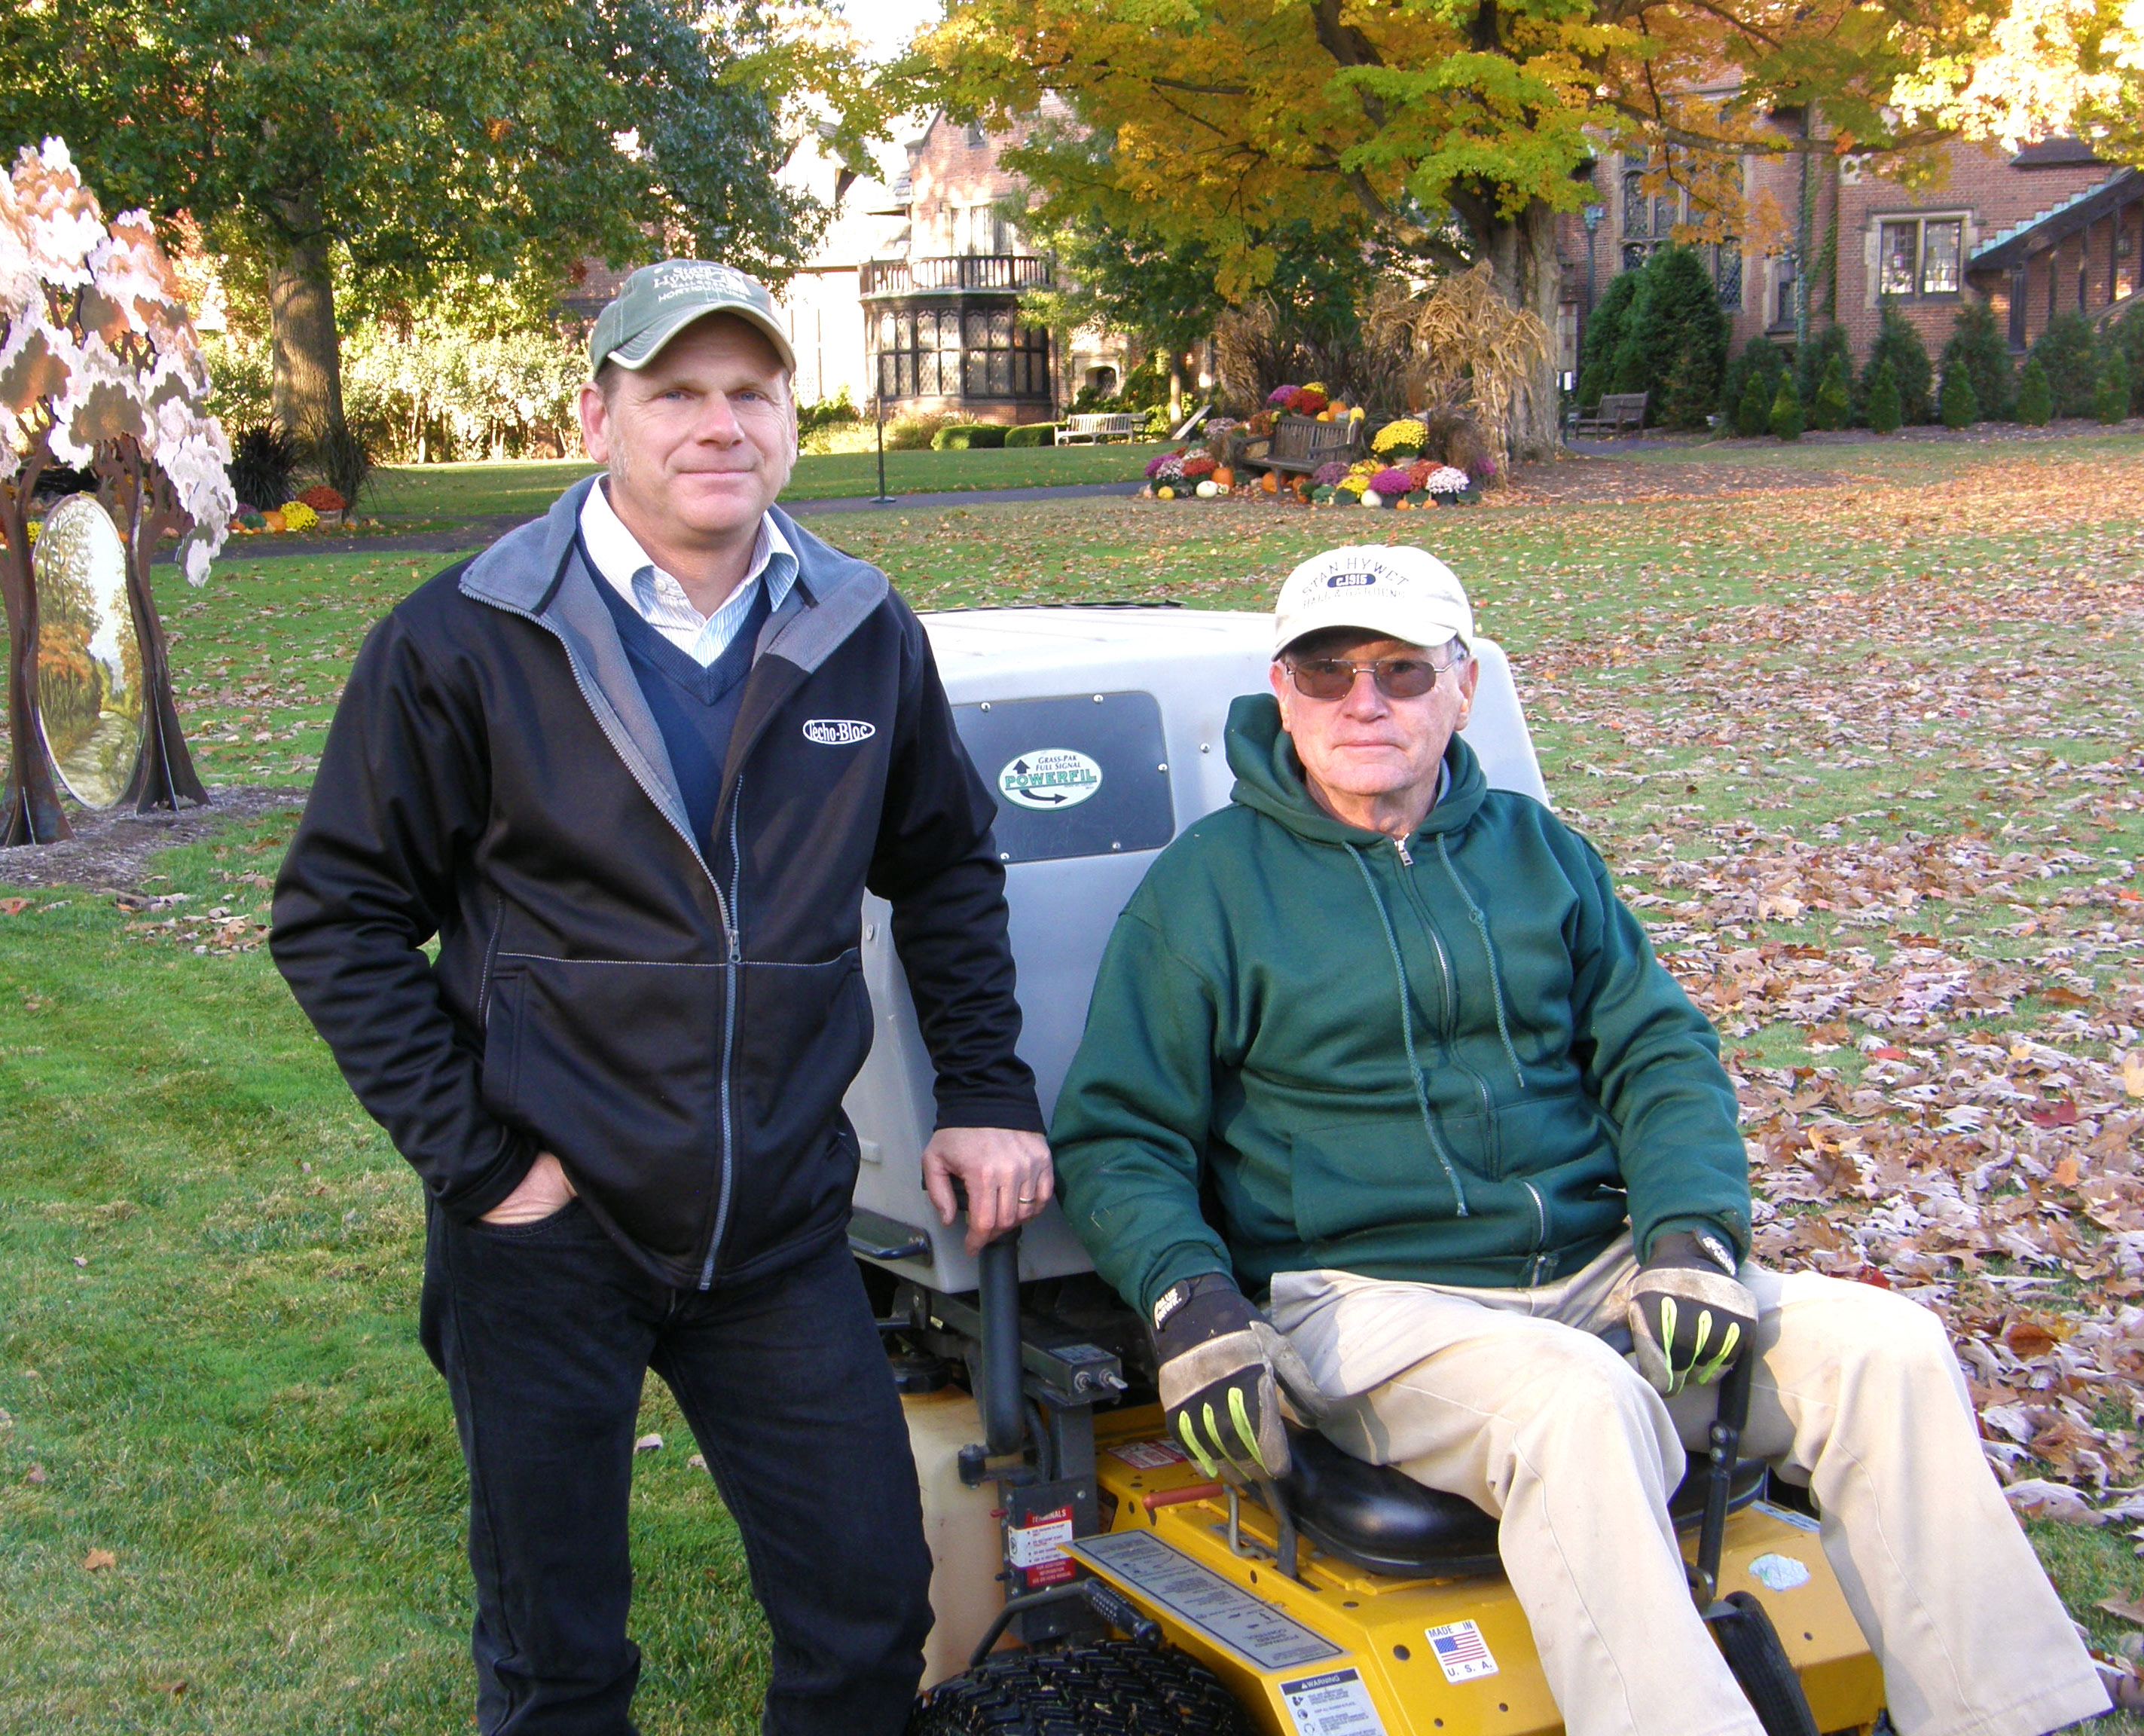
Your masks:
<instances>
[{"instance_id":1,"label":"broad leaf-strewn lawn around the two men, nearer than the path","mask_svg":"<svg viewBox=\"0 0 2144 1736\"><path fill-rule=\"evenodd\" d=\"M2144 439L1818 454L1574 465L1623 497L1428 517L1085 499L815 527L926 609L1252 609L1340 540L1445 555L1561 810L1726 1031L1765 1247L1938 1305L2015 1475L2135 1485ZM512 510L482 469L422 514ZM204 776L302 787L364 628L440 564L163 574ZM184 894L159 911L45 887L0 915L0 1730L470 1721L416 1185L257 945L289 823L159 857L142 889ZM643 1430L667 1445L635 1485L641 1727L742 1736L763 1637L735 1532L660 1385ZM2093 1605L2144 1595L2120 1532L2035 1526L2099 1644L2123 1622Z\"/></svg>"}]
</instances>

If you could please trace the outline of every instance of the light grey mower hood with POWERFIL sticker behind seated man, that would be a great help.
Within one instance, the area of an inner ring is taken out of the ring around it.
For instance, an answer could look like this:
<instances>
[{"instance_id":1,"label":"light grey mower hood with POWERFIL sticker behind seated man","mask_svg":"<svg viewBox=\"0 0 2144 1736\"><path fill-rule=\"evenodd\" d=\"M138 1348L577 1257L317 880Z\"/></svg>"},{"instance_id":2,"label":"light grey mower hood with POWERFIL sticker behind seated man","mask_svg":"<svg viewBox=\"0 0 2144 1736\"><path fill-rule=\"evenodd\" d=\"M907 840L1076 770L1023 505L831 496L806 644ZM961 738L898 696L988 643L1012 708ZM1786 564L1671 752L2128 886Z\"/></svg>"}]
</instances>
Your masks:
<instances>
[{"instance_id":1,"label":"light grey mower hood with POWERFIL sticker behind seated man","mask_svg":"<svg viewBox=\"0 0 2144 1736\"><path fill-rule=\"evenodd\" d=\"M1222 729L1239 694L1267 690L1274 617L1068 607L950 611L922 624L961 739L997 799L1021 1054L1048 1114L1117 913L1156 853L1229 802ZM1546 802L1509 662L1488 639L1475 639L1475 658L1466 742L1492 787ZM939 1228L922 1192L930 1054L879 898L864 900L864 982L875 1042L845 1099L862 1155L849 1245L933 1290L973 1290L963 1228ZM1027 1226L1023 1279L1087 1269L1055 1204Z\"/></svg>"}]
</instances>

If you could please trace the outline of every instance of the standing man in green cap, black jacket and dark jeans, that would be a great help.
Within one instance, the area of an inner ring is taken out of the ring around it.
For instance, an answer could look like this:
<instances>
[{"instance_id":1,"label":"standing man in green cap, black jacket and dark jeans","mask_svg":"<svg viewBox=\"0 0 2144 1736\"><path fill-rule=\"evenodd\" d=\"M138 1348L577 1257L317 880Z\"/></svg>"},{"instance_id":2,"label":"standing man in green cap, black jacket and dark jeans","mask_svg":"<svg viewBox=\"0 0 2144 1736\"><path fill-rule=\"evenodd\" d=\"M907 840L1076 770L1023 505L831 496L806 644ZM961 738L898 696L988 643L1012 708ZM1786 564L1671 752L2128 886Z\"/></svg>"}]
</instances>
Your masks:
<instances>
[{"instance_id":1,"label":"standing man in green cap, black jacket and dark jeans","mask_svg":"<svg viewBox=\"0 0 2144 1736\"><path fill-rule=\"evenodd\" d=\"M907 1434L847 1249L864 889L969 1245L1051 1196L991 799L885 574L774 506L768 291L669 259L590 339L607 476L367 639L274 960L425 1181L422 1342L470 1468L487 1736L626 1736L626 1502L671 1387L774 1631L770 1736L898 1732L930 1629ZM437 937L437 960L425 943Z\"/></svg>"}]
</instances>

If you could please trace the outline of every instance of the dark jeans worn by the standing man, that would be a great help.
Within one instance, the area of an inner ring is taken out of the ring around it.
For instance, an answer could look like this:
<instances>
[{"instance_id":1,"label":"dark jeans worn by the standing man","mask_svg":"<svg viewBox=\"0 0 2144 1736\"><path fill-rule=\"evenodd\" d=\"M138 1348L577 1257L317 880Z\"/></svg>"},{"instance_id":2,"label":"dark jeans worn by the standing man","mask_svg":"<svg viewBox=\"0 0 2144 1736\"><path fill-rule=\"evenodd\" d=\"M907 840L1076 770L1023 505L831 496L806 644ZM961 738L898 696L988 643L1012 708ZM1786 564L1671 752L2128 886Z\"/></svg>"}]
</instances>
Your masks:
<instances>
[{"instance_id":1,"label":"dark jeans worn by the standing man","mask_svg":"<svg viewBox=\"0 0 2144 1736\"><path fill-rule=\"evenodd\" d=\"M470 1466L485 1736L628 1736L626 1502L645 1370L693 1425L774 1629L768 1736L894 1736L930 1631L900 1400L849 1249L669 1290L575 1202L493 1228L431 1213L425 1352Z\"/></svg>"}]
</instances>

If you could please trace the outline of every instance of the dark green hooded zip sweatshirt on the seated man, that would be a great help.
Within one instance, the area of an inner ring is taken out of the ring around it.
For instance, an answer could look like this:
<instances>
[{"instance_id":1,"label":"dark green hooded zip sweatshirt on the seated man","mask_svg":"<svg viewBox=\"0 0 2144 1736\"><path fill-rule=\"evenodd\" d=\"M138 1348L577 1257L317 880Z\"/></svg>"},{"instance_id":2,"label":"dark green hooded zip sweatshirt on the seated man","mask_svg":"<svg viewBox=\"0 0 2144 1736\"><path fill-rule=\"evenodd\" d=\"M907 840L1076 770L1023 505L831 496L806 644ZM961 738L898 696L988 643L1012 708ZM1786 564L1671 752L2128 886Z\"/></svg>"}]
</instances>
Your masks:
<instances>
[{"instance_id":1,"label":"dark green hooded zip sweatshirt on the seated man","mask_svg":"<svg viewBox=\"0 0 2144 1736\"><path fill-rule=\"evenodd\" d=\"M1267 694L1229 765L1117 919L1051 1127L1128 1303L1203 1271L1546 1284L1625 1224L1747 1249L1719 1042L1582 838L1458 737L1404 847L1346 825Z\"/></svg>"}]
</instances>

